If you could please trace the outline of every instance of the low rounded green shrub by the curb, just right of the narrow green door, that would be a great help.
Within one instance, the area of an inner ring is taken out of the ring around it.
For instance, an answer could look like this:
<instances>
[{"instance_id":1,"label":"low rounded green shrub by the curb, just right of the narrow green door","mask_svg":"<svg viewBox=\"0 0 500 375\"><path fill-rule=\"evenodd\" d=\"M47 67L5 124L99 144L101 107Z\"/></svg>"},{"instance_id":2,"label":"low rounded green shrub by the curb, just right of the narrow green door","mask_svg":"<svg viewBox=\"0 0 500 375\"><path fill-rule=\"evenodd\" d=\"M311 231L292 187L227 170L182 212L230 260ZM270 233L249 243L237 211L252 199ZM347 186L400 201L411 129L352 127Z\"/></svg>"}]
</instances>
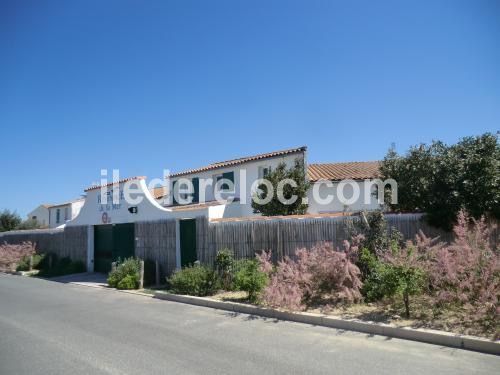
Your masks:
<instances>
[{"instance_id":1,"label":"low rounded green shrub by the curb, just right of the narrow green door","mask_svg":"<svg viewBox=\"0 0 500 375\"><path fill-rule=\"evenodd\" d=\"M174 293L192 296L212 295L220 288L220 279L217 272L201 265L177 270L167 281Z\"/></svg>"}]
</instances>

